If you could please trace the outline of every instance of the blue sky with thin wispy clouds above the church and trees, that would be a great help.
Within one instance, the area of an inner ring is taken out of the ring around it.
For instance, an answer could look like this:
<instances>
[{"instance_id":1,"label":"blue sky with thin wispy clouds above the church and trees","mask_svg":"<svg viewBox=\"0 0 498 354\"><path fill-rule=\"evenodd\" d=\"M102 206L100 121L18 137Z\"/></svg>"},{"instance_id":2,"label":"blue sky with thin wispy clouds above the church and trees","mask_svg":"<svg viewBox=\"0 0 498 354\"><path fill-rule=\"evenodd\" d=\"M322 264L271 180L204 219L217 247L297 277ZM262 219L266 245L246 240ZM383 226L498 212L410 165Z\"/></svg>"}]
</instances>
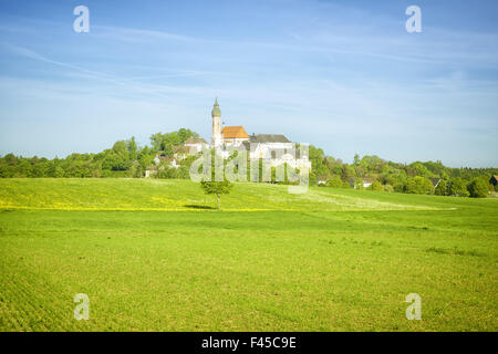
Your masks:
<instances>
[{"instance_id":1,"label":"blue sky with thin wispy clouds above the church and trees","mask_svg":"<svg viewBox=\"0 0 498 354\"><path fill-rule=\"evenodd\" d=\"M90 9L90 32L73 9ZM405 10L422 9L422 33ZM284 134L351 162L498 166L498 1L0 0L0 155L188 127Z\"/></svg>"}]
</instances>

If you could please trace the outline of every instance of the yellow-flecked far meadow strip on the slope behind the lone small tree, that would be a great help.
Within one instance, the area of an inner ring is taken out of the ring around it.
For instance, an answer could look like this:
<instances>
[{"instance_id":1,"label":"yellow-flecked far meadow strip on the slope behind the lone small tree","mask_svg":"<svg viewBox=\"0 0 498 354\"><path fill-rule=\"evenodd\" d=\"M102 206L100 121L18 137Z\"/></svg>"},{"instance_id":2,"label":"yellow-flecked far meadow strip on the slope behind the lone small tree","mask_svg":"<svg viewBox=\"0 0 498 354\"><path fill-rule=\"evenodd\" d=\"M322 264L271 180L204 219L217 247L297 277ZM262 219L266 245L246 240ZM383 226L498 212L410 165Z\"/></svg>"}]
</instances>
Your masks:
<instances>
[{"instance_id":1,"label":"yellow-flecked far meadow strip on the slope behind the lone small tree","mask_svg":"<svg viewBox=\"0 0 498 354\"><path fill-rule=\"evenodd\" d=\"M270 184L236 184L222 197L222 209L256 210L432 210L456 206L496 205L437 196L406 196L352 189L310 187L289 194L288 187ZM199 184L158 179L0 179L0 208L58 210L198 210L215 206Z\"/></svg>"}]
</instances>

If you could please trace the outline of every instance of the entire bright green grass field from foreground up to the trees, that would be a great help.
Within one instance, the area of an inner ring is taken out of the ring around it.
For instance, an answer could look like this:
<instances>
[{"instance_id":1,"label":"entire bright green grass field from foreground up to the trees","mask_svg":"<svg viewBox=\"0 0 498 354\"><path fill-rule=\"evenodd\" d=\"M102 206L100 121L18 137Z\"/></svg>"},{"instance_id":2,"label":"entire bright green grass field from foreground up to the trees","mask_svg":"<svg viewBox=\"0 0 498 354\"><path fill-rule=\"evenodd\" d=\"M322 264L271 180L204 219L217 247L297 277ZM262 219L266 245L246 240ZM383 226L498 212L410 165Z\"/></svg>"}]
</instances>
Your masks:
<instances>
[{"instance_id":1,"label":"entire bright green grass field from foreground up to the trees","mask_svg":"<svg viewBox=\"0 0 498 354\"><path fill-rule=\"evenodd\" d=\"M498 330L498 199L239 184L215 206L186 180L0 179L0 330Z\"/></svg>"}]
</instances>

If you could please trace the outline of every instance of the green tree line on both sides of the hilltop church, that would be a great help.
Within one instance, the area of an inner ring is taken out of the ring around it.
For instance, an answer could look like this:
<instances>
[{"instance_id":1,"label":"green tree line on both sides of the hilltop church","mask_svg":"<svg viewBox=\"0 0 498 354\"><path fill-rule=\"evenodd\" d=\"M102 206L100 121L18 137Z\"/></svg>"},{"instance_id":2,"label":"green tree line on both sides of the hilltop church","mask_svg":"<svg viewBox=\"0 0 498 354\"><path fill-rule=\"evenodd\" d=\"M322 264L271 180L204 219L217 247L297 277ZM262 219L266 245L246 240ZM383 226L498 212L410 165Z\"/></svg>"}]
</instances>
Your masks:
<instances>
[{"instance_id":1,"label":"green tree line on both sides of the hilltop church","mask_svg":"<svg viewBox=\"0 0 498 354\"><path fill-rule=\"evenodd\" d=\"M166 157L159 163L155 178L189 178L196 156L178 159L173 168L167 158L174 157L174 147L199 135L180 128L172 133L151 136L151 146L138 146L135 138L116 142L112 148L98 154L71 154L65 158L22 157L7 154L0 157L1 178L103 178L145 176L156 156ZM369 189L407 194L436 194L444 196L484 197L495 190L489 183L498 168L450 168L440 162L415 162L409 165L387 162L375 155L355 155L352 164L326 156L323 149L310 145L312 170L310 184L335 188L363 188L363 179L373 180ZM272 171L272 181L274 181ZM440 179L437 187L430 179Z\"/></svg>"}]
</instances>

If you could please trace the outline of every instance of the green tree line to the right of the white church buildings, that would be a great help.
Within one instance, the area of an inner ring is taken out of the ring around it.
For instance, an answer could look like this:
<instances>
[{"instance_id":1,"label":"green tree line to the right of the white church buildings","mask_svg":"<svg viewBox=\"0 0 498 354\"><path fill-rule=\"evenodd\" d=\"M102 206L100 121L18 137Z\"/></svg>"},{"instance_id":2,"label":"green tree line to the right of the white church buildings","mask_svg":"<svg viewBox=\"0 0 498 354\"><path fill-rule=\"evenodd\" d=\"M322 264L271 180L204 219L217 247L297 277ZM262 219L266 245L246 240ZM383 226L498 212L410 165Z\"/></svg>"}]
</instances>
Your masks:
<instances>
[{"instance_id":1,"label":"green tree line to the right of the white church buildings","mask_svg":"<svg viewBox=\"0 0 498 354\"><path fill-rule=\"evenodd\" d=\"M442 162L415 162L409 165L387 162L375 155L357 154L352 164L325 156L321 148L310 146L313 166L310 180L323 181L322 186L363 189L363 179L371 179L367 187L377 191L396 191L419 195L455 197L487 197L495 191L490 183L498 168L452 168Z\"/></svg>"}]
</instances>

